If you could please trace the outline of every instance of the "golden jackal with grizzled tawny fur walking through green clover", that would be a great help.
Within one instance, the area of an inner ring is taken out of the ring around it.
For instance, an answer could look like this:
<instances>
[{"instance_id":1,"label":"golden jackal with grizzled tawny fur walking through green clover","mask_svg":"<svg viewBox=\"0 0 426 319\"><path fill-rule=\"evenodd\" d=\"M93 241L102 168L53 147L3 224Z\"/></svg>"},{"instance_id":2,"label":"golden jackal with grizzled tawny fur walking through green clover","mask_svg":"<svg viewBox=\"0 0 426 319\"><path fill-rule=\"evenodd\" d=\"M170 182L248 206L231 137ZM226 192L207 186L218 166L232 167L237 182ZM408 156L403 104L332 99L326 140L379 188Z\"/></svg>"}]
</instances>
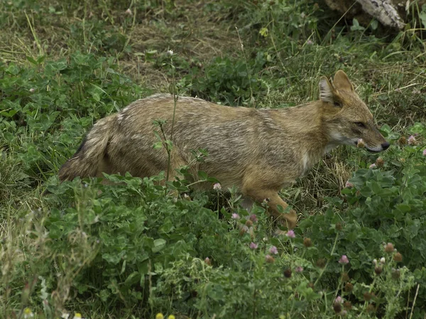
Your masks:
<instances>
[{"instance_id":1,"label":"golden jackal with grizzled tawny fur walking through green clover","mask_svg":"<svg viewBox=\"0 0 426 319\"><path fill-rule=\"evenodd\" d=\"M343 71L333 84L321 77L319 86L319 101L282 109L219 106L179 96L170 172L193 162L191 150L207 149L205 162L192 169L216 177L224 187L237 186L255 201L268 198L271 215L294 228L295 211L278 211L278 205L288 206L278 196L283 186L338 145L355 146L362 139L371 152L389 147ZM163 130L170 138L173 108L173 96L155 94L98 121L60 168L60 180L102 177L102 172L149 177L165 171L168 154L153 149L158 142L153 121L165 120Z\"/></svg>"}]
</instances>

